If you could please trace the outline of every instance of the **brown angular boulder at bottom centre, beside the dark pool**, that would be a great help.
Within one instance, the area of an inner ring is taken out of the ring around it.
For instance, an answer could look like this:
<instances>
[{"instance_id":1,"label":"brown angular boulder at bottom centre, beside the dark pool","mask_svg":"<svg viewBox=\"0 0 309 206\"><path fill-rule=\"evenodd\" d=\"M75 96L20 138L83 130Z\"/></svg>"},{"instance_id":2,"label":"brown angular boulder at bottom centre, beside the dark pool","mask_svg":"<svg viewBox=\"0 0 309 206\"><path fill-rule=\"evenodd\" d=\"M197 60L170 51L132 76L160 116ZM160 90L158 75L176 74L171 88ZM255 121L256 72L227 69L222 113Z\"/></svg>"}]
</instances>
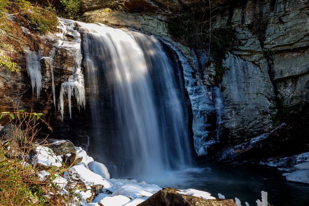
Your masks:
<instances>
[{"instance_id":1,"label":"brown angular boulder at bottom centre, beside the dark pool","mask_svg":"<svg viewBox=\"0 0 309 206\"><path fill-rule=\"evenodd\" d=\"M236 206L233 200L215 199L207 200L202 197L180 194L180 190L174 188L163 188L146 201L138 204L138 206L156 206L156 205L184 205L184 206Z\"/></svg>"}]
</instances>

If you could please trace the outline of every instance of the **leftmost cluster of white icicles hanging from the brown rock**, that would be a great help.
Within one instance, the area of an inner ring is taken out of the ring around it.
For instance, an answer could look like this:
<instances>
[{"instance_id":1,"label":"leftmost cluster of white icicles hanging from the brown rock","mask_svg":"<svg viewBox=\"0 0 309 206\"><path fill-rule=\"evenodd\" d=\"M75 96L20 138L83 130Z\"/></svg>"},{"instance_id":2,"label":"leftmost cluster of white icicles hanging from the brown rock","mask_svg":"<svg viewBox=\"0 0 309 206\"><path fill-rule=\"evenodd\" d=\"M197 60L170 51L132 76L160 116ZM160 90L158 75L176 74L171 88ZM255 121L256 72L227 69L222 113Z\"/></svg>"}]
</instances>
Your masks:
<instances>
[{"instance_id":1,"label":"leftmost cluster of white icicles hanging from the brown rock","mask_svg":"<svg viewBox=\"0 0 309 206\"><path fill-rule=\"evenodd\" d=\"M41 74L41 63L40 58L34 51L29 49L25 50L27 58L27 72L31 80L32 93L34 94L34 89L36 87L37 98L40 97L40 92L42 89L42 74Z\"/></svg>"}]
</instances>

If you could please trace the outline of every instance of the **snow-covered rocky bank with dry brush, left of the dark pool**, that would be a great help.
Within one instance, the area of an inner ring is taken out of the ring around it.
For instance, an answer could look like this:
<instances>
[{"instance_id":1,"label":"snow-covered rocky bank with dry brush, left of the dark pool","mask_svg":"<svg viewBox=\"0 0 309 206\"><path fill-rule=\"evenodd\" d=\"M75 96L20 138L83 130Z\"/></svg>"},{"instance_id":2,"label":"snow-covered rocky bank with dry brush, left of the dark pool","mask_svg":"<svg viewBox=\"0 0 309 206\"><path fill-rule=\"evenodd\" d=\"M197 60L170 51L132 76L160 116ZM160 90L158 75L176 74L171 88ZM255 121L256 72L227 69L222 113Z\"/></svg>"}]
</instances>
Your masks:
<instances>
[{"instance_id":1,"label":"snow-covered rocky bank with dry brush, left of the dark pool","mask_svg":"<svg viewBox=\"0 0 309 206\"><path fill-rule=\"evenodd\" d=\"M29 133L14 124L7 124L0 133L0 153L4 154L0 159L1 164L15 159L21 166L19 172L32 171L29 180L10 180L32 183L28 184L29 194L23 194L24 201L31 205L236 205L233 200L218 199L208 192L193 189L162 190L155 184L134 179L112 179L104 164L94 161L86 151L68 140L45 138L30 142L26 139ZM25 148L28 148L27 152ZM11 166L6 165L6 168ZM8 192L4 175L1 180L2 195ZM14 176L10 177L13 179ZM10 200L10 197L6 198ZM55 198L58 198L57 203Z\"/></svg>"}]
</instances>

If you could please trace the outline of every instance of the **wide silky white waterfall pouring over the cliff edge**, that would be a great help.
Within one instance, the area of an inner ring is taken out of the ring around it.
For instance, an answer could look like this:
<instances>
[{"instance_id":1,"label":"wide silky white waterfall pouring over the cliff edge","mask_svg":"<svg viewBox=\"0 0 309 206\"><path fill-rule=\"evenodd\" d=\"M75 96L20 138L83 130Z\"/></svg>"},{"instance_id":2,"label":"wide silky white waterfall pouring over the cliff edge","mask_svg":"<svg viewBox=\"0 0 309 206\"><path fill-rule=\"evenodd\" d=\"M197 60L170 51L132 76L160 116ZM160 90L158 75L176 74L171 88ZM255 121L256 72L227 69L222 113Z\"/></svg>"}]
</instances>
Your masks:
<instances>
[{"instance_id":1,"label":"wide silky white waterfall pouring over the cliff edge","mask_svg":"<svg viewBox=\"0 0 309 206\"><path fill-rule=\"evenodd\" d=\"M108 153L102 151L102 139L109 145L117 143L118 149L115 146L110 151L118 156L118 165L123 165L117 171L126 170L125 174L133 176L190 166L182 78L160 41L128 29L78 24L95 152ZM115 131L106 137L106 130Z\"/></svg>"}]
</instances>

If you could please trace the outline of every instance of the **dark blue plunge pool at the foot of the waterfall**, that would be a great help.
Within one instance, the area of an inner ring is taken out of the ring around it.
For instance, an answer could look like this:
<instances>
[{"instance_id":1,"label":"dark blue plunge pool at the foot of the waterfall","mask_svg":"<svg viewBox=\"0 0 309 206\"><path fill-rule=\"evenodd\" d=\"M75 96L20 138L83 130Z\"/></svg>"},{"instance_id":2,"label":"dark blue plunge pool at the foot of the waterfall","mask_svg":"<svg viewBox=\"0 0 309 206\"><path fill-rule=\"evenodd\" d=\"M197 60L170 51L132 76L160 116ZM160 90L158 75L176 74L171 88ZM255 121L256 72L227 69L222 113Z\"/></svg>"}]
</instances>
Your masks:
<instances>
[{"instance_id":1,"label":"dark blue plunge pool at the foot of the waterfall","mask_svg":"<svg viewBox=\"0 0 309 206\"><path fill-rule=\"evenodd\" d=\"M147 181L147 180L146 180ZM158 179L149 179L160 187L197 189L207 191L214 197L218 193L226 199L237 197L242 205L256 205L261 191L268 192L268 202L273 206L309 205L309 184L286 181L275 168L255 164L224 165L204 164L185 171L163 174Z\"/></svg>"}]
</instances>

